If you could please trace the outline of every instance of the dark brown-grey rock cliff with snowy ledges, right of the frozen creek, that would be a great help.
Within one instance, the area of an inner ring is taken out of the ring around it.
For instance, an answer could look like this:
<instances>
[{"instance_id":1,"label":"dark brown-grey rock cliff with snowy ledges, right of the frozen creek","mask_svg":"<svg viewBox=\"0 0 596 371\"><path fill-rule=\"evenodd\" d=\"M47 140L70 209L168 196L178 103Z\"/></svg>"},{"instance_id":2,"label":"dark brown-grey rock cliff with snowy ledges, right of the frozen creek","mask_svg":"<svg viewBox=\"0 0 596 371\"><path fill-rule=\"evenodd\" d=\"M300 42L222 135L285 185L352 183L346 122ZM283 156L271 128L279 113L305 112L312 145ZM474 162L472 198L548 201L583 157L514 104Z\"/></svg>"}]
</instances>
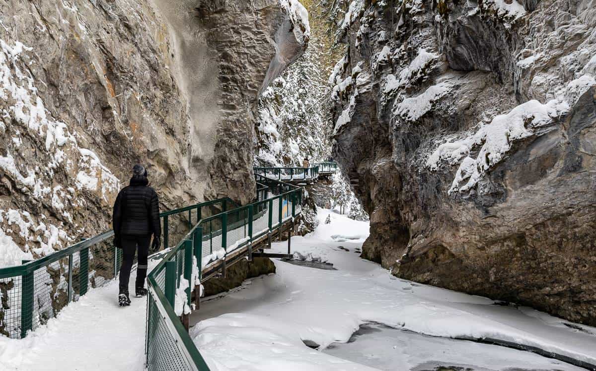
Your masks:
<instances>
[{"instance_id":1,"label":"dark brown-grey rock cliff with snowy ledges, right of the frozen creek","mask_svg":"<svg viewBox=\"0 0 596 371\"><path fill-rule=\"evenodd\" d=\"M594 2L364 3L334 135L362 255L595 325Z\"/></svg>"}]
</instances>

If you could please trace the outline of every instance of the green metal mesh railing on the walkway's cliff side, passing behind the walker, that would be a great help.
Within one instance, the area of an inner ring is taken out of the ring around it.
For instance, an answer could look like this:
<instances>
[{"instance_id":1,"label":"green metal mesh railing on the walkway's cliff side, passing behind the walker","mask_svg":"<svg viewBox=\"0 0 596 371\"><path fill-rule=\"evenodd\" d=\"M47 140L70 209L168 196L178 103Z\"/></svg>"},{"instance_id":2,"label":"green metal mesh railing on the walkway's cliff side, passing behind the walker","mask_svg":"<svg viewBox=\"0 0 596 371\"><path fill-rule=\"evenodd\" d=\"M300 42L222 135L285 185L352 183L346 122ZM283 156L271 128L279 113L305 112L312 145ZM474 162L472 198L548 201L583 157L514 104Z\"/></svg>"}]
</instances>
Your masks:
<instances>
[{"instance_id":1,"label":"green metal mesh railing on the walkway's cliff side, passing behind the walker","mask_svg":"<svg viewBox=\"0 0 596 371\"><path fill-rule=\"evenodd\" d=\"M237 206L226 198L160 214L163 246L169 245L171 235L184 234L185 228L190 229L203 216L228 205ZM171 223L174 217L178 220ZM38 260L1 268L0 336L24 338L28 331L35 331L63 307L85 295L89 287L115 278L122 263L122 250L114 247L113 236L114 232L108 230Z\"/></svg>"}]
</instances>

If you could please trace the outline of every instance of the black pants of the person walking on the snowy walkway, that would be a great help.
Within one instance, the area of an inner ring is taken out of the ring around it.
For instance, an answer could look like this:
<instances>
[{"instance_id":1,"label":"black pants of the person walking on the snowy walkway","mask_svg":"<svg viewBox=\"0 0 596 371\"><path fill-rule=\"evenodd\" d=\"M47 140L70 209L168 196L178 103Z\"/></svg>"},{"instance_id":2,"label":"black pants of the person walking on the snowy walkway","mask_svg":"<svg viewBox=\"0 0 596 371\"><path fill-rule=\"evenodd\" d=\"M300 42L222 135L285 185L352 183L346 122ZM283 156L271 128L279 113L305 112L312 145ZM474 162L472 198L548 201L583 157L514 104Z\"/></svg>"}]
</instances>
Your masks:
<instances>
[{"instance_id":1,"label":"black pants of the person walking on the snowy walkway","mask_svg":"<svg viewBox=\"0 0 596 371\"><path fill-rule=\"evenodd\" d=\"M147 256L149 255L148 236L122 236L122 266L120 266L120 292L128 292L128 280L131 278L132 261L135 259L135 250L138 250L138 265L136 266L135 288L145 286L147 278Z\"/></svg>"}]
</instances>

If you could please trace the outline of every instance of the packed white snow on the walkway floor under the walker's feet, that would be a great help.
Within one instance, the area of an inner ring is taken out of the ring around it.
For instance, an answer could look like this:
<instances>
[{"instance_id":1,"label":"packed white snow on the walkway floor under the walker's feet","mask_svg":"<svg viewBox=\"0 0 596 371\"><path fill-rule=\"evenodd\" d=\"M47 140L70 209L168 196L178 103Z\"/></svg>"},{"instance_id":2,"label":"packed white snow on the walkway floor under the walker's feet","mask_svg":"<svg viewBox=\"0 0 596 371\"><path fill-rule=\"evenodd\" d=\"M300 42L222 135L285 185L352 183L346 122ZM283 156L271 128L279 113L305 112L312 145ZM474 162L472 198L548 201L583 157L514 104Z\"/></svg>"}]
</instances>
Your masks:
<instances>
[{"instance_id":1,"label":"packed white snow on the walkway floor under the walker's feet","mask_svg":"<svg viewBox=\"0 0 596 371\"><path fill-rule=\"evenodd\" d=\"M147 298L131 297L122 308L117 295L118 282L110 280L26 338L0 336L0 370L144 370Z\"/></svg>"}]
</instances>

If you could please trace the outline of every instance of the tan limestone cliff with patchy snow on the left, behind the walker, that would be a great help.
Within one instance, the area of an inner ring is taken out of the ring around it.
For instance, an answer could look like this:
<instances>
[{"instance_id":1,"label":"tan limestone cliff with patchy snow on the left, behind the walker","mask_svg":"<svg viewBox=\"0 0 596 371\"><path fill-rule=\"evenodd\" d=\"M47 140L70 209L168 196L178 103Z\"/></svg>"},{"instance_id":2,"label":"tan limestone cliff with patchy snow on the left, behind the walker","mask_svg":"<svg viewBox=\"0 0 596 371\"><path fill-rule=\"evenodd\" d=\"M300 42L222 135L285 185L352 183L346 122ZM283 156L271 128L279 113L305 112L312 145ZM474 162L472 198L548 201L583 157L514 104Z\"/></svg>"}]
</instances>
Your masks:
<instances>
[{"instance_id":1,"label":"tan limestone cliff with patchy snow on the left, behind the walker","mask_svg":"<svg viewBox=\"0 0 596 371\"><path fill-rule=\"evenodd\" d=\"M0 266L108 229L135 163L163 208L250 201L297 22L277 0L0 0Z\"/></svg>"}]
</instances>

